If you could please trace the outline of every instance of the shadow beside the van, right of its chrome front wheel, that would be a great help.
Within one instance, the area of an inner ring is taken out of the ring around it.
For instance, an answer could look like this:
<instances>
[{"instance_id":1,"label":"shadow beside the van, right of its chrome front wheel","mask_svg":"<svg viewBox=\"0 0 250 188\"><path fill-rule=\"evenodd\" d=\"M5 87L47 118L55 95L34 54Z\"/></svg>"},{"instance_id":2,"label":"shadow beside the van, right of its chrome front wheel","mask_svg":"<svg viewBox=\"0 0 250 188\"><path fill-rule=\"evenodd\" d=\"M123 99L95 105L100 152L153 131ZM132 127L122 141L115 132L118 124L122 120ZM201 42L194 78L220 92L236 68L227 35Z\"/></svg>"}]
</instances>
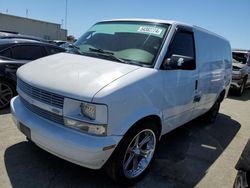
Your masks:
<instances>
[{"instance_id":1,"label":"shadow beside the van, right of its chrome front wheel","mask_svg":"<svg viewBox=\"0 0 250 188\"><path fill-rule=\"evenodd\" d=\"M176 187L195 187L240 127L229 116L219 114L214 124L196 119L174 130L161 139L152 175L172 180Z\"/></svg>"}]
</instances>

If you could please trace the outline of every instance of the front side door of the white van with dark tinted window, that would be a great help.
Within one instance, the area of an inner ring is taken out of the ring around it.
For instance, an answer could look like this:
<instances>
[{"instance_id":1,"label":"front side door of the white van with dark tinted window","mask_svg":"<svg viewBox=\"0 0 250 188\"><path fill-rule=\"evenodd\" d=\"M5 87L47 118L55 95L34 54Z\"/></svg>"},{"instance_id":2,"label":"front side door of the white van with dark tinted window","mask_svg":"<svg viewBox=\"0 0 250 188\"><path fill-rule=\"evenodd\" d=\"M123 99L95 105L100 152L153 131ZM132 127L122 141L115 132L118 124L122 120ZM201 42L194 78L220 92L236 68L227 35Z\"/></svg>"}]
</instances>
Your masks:
<instances>
[{"instance_id":1,"label":"front side door of the white van with dark tinted window","mask_svg":"<svg viewBox=\"0 0 250 188\"><path fill-rule=\"evenodd\" d=\"M193 119L193 109L199 102L197 95L198 72L196 70L195 40L192 28L177 28L170 43L165 60L173 56L186 56L193 59L194 65L189 69L164 69L161 74L164 85L163 132L170 130Z\"/></svg>"}]
</instances>

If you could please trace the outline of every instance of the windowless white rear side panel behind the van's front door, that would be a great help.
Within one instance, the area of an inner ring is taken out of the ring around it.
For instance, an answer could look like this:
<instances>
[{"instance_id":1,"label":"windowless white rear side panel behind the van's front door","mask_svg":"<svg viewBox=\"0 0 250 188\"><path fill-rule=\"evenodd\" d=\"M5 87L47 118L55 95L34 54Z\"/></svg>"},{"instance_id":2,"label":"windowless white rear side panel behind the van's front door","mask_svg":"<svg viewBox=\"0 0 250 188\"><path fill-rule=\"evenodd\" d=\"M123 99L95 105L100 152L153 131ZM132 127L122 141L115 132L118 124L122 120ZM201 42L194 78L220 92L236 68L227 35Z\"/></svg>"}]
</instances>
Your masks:
<instances>
[{"instance_id":1,"label":"windowless white rear side panel behind the van's front door","mask_svg":"<svg viewBox=\"0 0 250 188\"><path fill-rule=\"evenodd\" d=\"M194 111L199 116L208 111L220 93L228 92L231 81L232 55L227 40L194 27L196 62L199 72L198 95L201 100Z\"/></svg>"}]
</instances>

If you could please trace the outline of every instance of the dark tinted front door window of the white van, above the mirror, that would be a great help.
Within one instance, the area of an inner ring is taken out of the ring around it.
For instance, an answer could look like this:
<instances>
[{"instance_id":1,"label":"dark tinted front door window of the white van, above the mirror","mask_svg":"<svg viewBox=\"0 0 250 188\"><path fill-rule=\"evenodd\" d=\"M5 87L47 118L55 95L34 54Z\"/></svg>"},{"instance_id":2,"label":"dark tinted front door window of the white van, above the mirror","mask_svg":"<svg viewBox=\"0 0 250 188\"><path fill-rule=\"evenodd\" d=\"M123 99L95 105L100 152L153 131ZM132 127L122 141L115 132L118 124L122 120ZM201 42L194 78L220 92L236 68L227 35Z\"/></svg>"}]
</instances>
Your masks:
<instances>
[{"instance_id":1,"label":"dark tinted front door window of the white van, above the mirror","mask_svg":"<svg viewBox=\"0 0 250 188\"><path fill-rule=\"evenodd\" d=\"M167 58L173 54L195 58L193 33L188 31L178 31L172 41L167 53Z\"/></svg>"}]
</instances>

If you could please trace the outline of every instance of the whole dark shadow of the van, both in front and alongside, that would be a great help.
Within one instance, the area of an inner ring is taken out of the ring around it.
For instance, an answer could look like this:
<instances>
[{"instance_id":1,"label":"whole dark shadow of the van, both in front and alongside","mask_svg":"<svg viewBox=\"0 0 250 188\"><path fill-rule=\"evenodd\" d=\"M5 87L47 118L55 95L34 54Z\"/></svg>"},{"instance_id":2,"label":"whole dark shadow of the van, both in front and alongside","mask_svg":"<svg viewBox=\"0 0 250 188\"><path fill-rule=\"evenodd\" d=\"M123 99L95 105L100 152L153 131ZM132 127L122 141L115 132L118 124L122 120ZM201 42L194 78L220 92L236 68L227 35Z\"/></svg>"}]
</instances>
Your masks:
<instances>
[{"instance_id":1,"label":"whole dark shadow of the van, both in front and alongside","mask_svg":"<svg viewBox=\"0 0 250 188\"><path fill-rule=\"evenodd\" d=\"M194 120L163 136L156 160L136 187L194 187L240 129L219 114L215 124ZM11 184L21 187L117 187L102 170L86 169L55 157L31 142L6 149Z\"/></svg>"}]
</instances>

